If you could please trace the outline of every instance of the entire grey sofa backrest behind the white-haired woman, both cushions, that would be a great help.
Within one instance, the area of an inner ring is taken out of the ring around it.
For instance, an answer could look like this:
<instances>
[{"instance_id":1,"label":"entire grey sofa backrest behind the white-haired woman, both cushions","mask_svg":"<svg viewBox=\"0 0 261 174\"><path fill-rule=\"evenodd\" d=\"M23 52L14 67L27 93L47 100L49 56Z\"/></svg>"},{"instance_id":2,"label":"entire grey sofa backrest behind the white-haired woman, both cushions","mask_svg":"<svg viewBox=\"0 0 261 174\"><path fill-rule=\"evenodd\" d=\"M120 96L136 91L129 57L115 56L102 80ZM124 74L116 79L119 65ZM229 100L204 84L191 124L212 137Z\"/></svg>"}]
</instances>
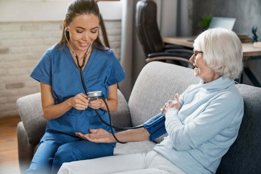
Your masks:
<instances>
[{"instance_id":1,"label":"entire grey sofa backrest behind the white-haired woman, both cushions","mask_svg":"<svg viewBox=\"0 0 261 174\"><path fill-rule=\"evenodd\" d=\"M133 87L129 110L133 126L160 112L176 93L199 82L193 69L162 62L147 64ZM261 88L235 85L244 99L244 116L238 137L222 157L216 173L261 173ZM159 143L167 134L154 140Z\"/></svg>"}]
</instances>

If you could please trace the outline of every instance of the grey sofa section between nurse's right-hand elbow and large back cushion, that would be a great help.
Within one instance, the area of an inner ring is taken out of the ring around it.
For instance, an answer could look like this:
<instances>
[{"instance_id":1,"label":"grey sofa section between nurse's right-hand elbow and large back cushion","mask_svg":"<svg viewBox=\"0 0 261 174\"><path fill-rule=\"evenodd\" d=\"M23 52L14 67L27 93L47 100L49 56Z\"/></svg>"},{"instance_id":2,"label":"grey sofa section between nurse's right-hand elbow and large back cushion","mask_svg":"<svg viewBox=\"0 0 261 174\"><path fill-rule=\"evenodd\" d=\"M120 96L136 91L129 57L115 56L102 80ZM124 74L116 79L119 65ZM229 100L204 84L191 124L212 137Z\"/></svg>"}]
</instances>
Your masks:
<instances>
[{"instance_id":1,"label":"grey sofa section between nurse's right-hand elbow and large back cushion","mask_svg":"<svg viewBox=\"0 0 261 174\"><path fill-rule=\"evenodd\" d=\"M121 91L118 89L118 109L111 112L112 124L118 127L131 127L129 106ZM116 129L117 131L118 129Z\"/></svg>"}]
</instances>

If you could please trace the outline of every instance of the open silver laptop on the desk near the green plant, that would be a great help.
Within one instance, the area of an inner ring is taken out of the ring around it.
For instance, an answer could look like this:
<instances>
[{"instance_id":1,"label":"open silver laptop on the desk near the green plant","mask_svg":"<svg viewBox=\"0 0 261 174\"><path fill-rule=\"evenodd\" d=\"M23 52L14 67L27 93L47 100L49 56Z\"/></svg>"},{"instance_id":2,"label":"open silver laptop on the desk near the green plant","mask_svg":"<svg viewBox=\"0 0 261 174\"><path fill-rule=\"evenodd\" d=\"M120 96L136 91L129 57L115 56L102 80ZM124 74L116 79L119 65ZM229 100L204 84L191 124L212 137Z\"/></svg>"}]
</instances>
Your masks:
<instances>
[{"instance_id":1,"label":"open silver laptop on the desk near the green plant","mask_svg":"<svg viewBox=\"0 0 261 174\"><path fill-rule=\"evenodd\" d=\"M222 27L222 28L232 30L235 22L236 22L236 18L212 17L208 29ZM194 40L188 40L188 41L194 42Z\"/></svg>"}]
</instances>

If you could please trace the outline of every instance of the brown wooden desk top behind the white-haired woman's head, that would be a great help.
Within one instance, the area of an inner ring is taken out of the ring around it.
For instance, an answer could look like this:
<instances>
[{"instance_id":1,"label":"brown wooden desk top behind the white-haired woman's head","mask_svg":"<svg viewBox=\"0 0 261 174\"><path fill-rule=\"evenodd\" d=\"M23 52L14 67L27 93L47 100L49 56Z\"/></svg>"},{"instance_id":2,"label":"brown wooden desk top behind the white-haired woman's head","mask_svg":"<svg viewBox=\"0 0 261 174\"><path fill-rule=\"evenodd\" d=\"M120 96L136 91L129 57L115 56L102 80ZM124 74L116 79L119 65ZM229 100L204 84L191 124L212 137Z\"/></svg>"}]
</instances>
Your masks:
<instances>
[{"instance_id":1,"label":"brown wooden desk top behind the white-haired woman's head","mask_svg":"<svg viewBox=\"0 0 261 174\"><path fill-rule=\"evenodd\" d=\"M196 36L191 37L175 37L175 38L162 38L164 43L186 46L189 48L193 48L193 43L188 40L194 40ZM250 57L250 56L261 56L261 48L253 47L253 43L242 43L243 48L243 56Z\"/></svg>"}]
</instances>

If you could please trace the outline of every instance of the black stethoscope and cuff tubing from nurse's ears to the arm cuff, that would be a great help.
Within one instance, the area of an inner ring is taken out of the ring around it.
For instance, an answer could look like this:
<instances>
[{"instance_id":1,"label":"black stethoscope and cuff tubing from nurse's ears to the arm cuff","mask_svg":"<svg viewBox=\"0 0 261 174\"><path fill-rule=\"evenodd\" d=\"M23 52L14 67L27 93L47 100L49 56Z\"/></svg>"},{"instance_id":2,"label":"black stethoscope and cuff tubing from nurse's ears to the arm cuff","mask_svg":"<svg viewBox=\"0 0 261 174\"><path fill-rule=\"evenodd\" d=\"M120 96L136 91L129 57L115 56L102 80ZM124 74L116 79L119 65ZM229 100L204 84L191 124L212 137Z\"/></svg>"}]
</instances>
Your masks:
<instances>
[{"instance_id":1,"label":"black stethoscope and cuff tubing from nurse's ears to the arm cuff","mask_svg":"<svg viewBox=\"0 0 261 174\"><path fill-rule=\"evenodd\" d=\"M66 40L67 40L67 43L69 44L69 46L70 46L70 48L71 48L72 52L74 53L75 58L76 58L76 60L77 60L77 64L78 64L78 67L80 68L80 73L81 73L82 86L83 86L83 88L84 88L85 93L87 94L88 91L87 91L87 89L86 89L86 87L85 87L85 83L84 83L84 79L83 79L83 73L82 73L82 68L84 67L86 57L87 57L87 55L88 55L88 52L89 52L89 50L90 50L90 48L91 48L93 42L91 43L91 45L89 46L89 48L88 48L88 50L87 50L87 52L86 52L86 55L85 55L85 57L84 57L84 61L83 61L82 65L80 65L80 63L79 63L79 57L78 57L77 54L73 51L72 46L70 45L70 43L69 43L69 41L68 41L68 39L67 39L67 37L66 37L66 29L67 29L67 28L65 28L65 30L64 30L64 35L65 35L65 38L66 38ZM99 112L98 112L97 109L95 109L95 111L96 111L98 117L100 118L100 120L101 120L104 124L106 124L107 126L109 126L109 127L111 128L111 133L112 133L113 137L114 137L115 140L118 141L119 143L125 144L125 143L127 143L127 142L121 142L121 141L119 141L119 140L116 138L116 136L114 135L112 128L121 129L121 130L128 130L128 129L138 129L138 128L143 128L143 127L144 127L144 126L138 126L138 127L117 127L117 126L113 126L113 125L112 125L112 122L111 122L111 114L110 114L110 110L109 110L109 107L108 107L108 105L107 105L107 102L106 102L105 99L102 98L102 97L98 97L98 98L99 98L99 99L102 99L102 100L104 101L106 107L107 107L110 124L106 123L106 122L102 119L102 117L100 116L100 114L99 114Z\"/></svg>"}]
</instances>

